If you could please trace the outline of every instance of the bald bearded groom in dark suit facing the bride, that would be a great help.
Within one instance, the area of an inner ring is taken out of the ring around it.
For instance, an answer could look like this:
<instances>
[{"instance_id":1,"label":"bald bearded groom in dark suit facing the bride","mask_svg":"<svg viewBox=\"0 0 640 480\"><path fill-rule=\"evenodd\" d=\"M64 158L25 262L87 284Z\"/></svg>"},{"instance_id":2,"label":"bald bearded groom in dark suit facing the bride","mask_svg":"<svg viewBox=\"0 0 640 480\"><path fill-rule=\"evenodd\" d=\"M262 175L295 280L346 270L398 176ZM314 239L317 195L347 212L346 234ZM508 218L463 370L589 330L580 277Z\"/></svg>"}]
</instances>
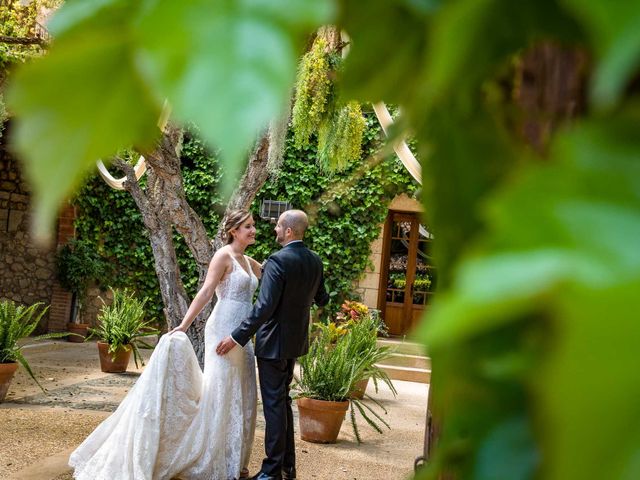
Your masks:
<instances>
[{"instance_id":1,"label":"bald bearded groom in dark suit facing the bride","mask_svg":"<svg viewBox=\"0 0 640 480\"><path fill-rule=\"evenodd\" d=\"M266 458L252 480L294 480L296 457L289 390L297 357L309 349L309 312L312 303L324 306L322 262L302 238L309 225L301 210L287 210L278 219L276 240L282 249L271 255L262 274L258 300L249 317L216 352L224 355L244 346L256 335L256 357L266 423Z\"/></svg>"}]
</instances>

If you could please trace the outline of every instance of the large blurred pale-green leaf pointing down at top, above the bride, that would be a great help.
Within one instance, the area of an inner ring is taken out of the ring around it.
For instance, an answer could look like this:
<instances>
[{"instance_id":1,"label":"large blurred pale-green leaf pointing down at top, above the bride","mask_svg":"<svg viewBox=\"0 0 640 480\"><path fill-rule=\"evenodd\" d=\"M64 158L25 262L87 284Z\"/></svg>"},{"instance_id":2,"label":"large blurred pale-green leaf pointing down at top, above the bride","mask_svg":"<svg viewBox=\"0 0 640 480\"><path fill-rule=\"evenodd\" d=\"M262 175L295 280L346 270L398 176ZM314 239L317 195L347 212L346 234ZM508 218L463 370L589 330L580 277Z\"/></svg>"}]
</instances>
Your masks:
<instances>
[{"instance_id":1,"label":"large blurred pale-green leaf pointing down at top, above the bride","mask_svg":"<svg viewBox=\"0 0 640 480\"><path fill-rule=\"evenodd\" d=\"M222 150L227 191L259 131L290 95L301 33L330 20L331 2L146 2L142 65L159 97Z\"/></svg>"}]
</instances>

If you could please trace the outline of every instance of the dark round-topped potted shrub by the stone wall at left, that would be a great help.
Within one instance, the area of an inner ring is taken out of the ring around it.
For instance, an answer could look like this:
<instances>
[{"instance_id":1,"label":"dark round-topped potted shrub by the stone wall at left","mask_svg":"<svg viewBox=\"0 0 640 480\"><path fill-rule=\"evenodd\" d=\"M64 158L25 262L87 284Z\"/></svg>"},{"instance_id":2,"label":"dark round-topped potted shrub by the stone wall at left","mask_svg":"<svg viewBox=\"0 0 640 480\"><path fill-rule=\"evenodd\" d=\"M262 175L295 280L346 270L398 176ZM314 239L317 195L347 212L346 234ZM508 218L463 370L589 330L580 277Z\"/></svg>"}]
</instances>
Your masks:
<instances>
[{"instance_id":1,"label":"dark round-topped potted shrub by the stone wall at left","mask_svg":"<svg viewBox=\"0 0 640 480\"><path fill-rule=\"evenodd\" d=\"M82 322L82 309L87 288L92 282L100 282L106 273L106 264L95 247L84 240L73 239L58 250L56 275L60 284L73 293L73 312L67 330L70 342L84 342L88 323Z\"/></svg>"}]
</instances>

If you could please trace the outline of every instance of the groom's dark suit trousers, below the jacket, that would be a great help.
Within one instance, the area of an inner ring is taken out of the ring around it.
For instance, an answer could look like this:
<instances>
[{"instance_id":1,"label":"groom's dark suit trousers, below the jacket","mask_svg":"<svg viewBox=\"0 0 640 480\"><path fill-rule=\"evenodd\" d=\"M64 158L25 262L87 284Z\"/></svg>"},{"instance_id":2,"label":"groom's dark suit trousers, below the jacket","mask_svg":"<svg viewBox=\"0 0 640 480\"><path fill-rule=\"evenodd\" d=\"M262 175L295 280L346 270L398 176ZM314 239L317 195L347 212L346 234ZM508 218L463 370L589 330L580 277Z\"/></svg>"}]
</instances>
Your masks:
<instances>
[{"instance_id":1,"label":"groom's dark suit trousers, below the jacket","mask_svg":"<svg viewBox=\"0 0 640 480\"><path fill-rule=\"evenodd\" d=\"M258 358L260 394L265 419L264 450L261 472L280 477L282 469L296 466L291 381L295 359Z\"/></svg>"}]
</instances>

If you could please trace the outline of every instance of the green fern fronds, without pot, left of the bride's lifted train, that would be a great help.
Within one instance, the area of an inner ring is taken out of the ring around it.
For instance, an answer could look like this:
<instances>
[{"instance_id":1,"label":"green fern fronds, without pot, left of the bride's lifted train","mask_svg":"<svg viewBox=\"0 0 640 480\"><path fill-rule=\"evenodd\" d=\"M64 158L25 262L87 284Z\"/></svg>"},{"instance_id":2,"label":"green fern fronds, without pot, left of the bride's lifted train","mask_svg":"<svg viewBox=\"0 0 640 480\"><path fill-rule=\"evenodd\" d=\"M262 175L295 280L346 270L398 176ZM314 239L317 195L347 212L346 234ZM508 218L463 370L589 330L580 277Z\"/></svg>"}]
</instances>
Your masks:
<instances>
[{"instance_id":1,"label":"green fern fronds, without pot, left of the bride's lifted train","mask_svg":"<svg viewBox=\"0 0 640 480\"><path fill-rule=\"evenodd\" d=\"M138 348L153 348L142 339L158 335L160 332L152 328L154 320L145 320L145 304L147 300L138 300L135 294L127 289L111 290L113 302L103 306L98 314L98 327L90 328L87 338L97 336L109 344L109 353L115 354L120 349L133 350L133 358L138 367L138 360L144 361Z\"/></svg>"}]
</instances>

